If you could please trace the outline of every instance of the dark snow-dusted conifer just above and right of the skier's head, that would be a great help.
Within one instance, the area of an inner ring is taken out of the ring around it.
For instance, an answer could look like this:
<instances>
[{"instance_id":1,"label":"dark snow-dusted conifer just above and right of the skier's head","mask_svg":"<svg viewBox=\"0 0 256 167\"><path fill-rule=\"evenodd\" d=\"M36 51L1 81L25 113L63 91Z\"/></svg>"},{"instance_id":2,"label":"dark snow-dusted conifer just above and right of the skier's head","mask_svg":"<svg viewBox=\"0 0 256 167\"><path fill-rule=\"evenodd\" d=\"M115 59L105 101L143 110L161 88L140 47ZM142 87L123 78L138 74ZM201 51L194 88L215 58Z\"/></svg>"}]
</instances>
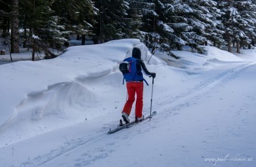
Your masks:
<instances>
[{"instance_id":1,"label":"dark snow-dusted conifer just above and right of the skier's head","mask_svg":"<svg viewBox=\"0 0 256 167\"><path fill-rule=\"evenodd\" d=\"M166 24L168 19L163 15L163 11L166 9L164 3L159 0L139 0L129 1L129 3L130 8L134 8L142 17L142 27L139 31L141 40L151 49L151 53L154 54L156 50L160 50L160 52L166 52L176 57L171 52L171 45L178 37L172 34L174 30ZM184 42L180 38L176 41Z\"/></svg>"}]
</instances>

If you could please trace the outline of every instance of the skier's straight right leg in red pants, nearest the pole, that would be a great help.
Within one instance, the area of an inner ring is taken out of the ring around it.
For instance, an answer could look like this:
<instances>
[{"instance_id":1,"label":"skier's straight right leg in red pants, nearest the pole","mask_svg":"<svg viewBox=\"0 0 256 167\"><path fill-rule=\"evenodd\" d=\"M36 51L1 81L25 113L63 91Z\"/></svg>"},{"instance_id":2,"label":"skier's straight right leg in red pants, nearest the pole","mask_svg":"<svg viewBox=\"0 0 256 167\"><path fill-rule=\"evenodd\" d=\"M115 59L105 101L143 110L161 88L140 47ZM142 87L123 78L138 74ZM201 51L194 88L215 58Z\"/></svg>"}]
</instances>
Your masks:
<instances>
[{"instance_id":1,"label":"skier's straight right leg in red pants, nearest the pole","mask_svg":"<svg viewBox=\"0 0 256 167\"><path fill-rule=\"evenodd\" d=\"M135 116L137 118L142 117L142 108L143 108L143 83L136 83L136 108L135 108Z\"/></svg>"}]
</instances>

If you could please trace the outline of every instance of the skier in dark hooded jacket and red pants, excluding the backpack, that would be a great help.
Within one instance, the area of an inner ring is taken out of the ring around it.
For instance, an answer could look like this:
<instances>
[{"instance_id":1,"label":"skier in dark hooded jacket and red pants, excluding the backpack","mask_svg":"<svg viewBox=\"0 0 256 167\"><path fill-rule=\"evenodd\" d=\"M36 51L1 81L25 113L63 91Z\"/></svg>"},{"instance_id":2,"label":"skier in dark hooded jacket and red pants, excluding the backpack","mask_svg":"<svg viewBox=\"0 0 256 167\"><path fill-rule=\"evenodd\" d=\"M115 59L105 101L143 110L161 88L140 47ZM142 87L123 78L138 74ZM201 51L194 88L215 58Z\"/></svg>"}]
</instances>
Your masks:
<instances>
[{"instance_id":1,"label":"skier in dark hooded jacket and red pants, excluding the backpack","mask_svg":"<svg viewBox=\"0 0 256 167\"><path fill-rule=\"evenodd\" d=\"M135 100L135 93L137 95L136 105L135 105L135 122L141 121L142 118L142 108L143 108L143 73L147 76L152 76L155 78L155 72L149 72L141 59L141 49L133 48L132 57L135 58L136 65L136 76L132 79L126 79L126 88L128 93L128 100L126 101L125 106L122 111L123 121L126 123L130 122L129 115L131 113L131 107L133 106L133 102ZM133 67L131 65L131 67ZM133 69L131 69L133 70ZM144 80L146 81L146 80Z\"/></svg>"}]
</instances>

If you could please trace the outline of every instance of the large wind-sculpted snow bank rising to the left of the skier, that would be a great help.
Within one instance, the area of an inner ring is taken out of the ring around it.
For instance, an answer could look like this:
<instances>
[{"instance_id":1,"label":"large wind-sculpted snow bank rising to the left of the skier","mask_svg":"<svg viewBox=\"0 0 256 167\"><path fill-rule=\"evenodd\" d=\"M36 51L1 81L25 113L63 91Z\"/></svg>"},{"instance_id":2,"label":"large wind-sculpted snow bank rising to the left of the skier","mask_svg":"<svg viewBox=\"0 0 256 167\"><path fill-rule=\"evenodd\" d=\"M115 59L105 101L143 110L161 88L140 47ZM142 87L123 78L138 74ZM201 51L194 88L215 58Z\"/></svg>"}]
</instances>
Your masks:
<instances>
[{"instance_id":1,"label":"large wind-sculpted snow bank rising to the left of the skier","mask_svg":"<svg viewBox=\"0 0 256 167\"><path fill-rule=\"evenodd\" d=\"M118 63L131 55L134 46L142 49L142 58L148 62L146 46L127 39L69 47L55 59L1 65L1 140L15 142L116 109L113 96L125 91L117 89L125 88ZM150 64L166 65L154 56Z\"/></svg>"}]
</instances>

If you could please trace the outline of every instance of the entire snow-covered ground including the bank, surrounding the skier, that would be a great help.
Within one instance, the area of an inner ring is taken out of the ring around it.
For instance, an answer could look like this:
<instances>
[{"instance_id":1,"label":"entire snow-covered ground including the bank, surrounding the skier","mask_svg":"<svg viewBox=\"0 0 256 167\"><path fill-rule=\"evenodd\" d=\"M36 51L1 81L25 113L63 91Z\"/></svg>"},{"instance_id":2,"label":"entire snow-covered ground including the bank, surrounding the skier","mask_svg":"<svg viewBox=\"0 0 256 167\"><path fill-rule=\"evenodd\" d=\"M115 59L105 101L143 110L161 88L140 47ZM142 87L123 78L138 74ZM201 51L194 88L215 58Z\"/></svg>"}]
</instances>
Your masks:
<instances>
[{"instance_id":1,"label":"entire snow-covered ground including the bank, surrounding the skier","mask_svg":"<svg viewBox=\"0 0 256 167\"><path fill-rule=\"evenodd\" d=\"M118 63L134 46L156 72L158 114L108 135L126 100ZM150 58L139 40L117 40L1 65L1 166L255 166L256 52L205 49Z\"/></svg>"}]
</instances>

